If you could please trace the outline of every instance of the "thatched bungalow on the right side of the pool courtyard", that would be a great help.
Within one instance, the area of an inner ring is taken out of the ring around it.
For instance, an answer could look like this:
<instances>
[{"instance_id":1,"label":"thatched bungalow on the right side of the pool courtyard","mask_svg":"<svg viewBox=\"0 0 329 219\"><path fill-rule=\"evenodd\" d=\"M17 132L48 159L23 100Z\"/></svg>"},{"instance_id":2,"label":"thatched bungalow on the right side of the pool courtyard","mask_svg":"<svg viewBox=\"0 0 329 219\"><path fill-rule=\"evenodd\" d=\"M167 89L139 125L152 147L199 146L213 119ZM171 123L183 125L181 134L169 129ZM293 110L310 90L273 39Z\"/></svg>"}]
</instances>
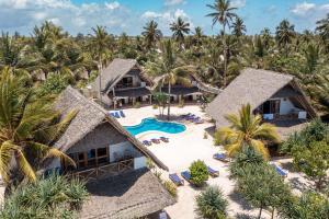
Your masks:
<instances>
[{"instance_id":1,"label":"thatched bungalow on the right side of the pool courtyard","mask_svg":"<svg viewBox=\"0 0 329 219\"><path fill-rule=\"evenodd\" d=\"M228 126L225 115L237 114L248 103L254 114L276 125L282 137L317 116L293 76L251 68L220 92L206 112L216 120L216 127Z\"/></svg>"}]
</instances>

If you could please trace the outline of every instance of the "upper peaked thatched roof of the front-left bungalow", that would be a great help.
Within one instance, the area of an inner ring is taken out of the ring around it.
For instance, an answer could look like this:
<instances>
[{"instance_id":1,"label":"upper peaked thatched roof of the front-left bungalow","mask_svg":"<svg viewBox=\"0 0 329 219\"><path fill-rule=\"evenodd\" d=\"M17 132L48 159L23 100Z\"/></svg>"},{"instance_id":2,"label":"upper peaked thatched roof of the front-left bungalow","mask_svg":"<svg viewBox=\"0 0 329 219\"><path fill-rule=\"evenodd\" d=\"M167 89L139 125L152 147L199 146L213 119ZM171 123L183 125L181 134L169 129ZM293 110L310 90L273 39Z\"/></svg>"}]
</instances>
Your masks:
<instances>
[{"instance_id":1,"label":"upper peaked thatched roof of the front-left bungalow","mask_svg":"<svg viewBox=\"0 0 329 219\"><path fill-rule=\"evenodd\" d=\"M67 151L71 147L76 146L87 135L91 134L101 125L109 124L111 128L117 130L120 138L124 138L126 141L140 151L146 157L154 160L154 162L164 170L168 168L147 148L145 148L134 136L132 136L115 118L107 116L107 112L100 105L91 100L84 97L79 91L71 87L68 87L57 99L56 108L67 115L71 111L78 111L77 116L72 119L66 131L57 140L55 147L63 151ZM111 136L113 134L109 134Z\"/></svg>"}]
</instances>

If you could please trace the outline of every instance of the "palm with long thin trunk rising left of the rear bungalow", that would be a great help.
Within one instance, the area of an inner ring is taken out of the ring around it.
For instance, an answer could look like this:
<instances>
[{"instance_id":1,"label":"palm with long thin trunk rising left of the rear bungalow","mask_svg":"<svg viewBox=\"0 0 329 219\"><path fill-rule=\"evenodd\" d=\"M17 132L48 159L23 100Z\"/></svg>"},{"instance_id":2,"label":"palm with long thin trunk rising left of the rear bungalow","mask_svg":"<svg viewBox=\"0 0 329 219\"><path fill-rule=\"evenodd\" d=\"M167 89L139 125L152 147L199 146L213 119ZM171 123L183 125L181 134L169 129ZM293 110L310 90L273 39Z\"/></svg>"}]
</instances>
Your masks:
<instances>
[{"instance_id":1,"label":"palm with long thin trunk rising left of the rear bungalow","mask_svg":"<svg viewBox=\"0 0 329 219\"><path fill-rule=\"evenodd\" d=\"M99 62L99 85L100 85L100 99L102 101L101 88L102 88L102 69L103 69L103 58L109 50L111 45L111 38L104 26L92 27L93 34L91 35L90 46L95 51L98 62Z\"/></svg>"}]
</instances>

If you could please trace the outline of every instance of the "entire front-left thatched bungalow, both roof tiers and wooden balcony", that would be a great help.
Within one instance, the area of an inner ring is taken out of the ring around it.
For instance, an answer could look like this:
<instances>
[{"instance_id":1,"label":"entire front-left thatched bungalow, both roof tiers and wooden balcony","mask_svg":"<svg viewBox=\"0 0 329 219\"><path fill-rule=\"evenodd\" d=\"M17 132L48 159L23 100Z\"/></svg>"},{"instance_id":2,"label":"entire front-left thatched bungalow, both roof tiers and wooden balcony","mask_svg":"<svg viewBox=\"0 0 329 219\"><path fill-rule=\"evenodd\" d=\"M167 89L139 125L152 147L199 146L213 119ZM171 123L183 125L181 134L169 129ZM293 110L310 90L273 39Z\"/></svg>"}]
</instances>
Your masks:
<instances>
[{"instance_id":1,"label":"entire front-left thatched bungalow, both roof tiers and wooden balcony","mask_svg":"<svg viewBox=\"0 0 329 219\"><path fill-rule=\"evenodd\" d=\"M174 203L147 169L147 158L163 170L168 168L100 105L69 87L56 107L63 116L76 113L55 147L77 166L56 160L48 169L88 181L91 197L81 218L139 218L158 215Z\"/></svg>"}]
</instances>

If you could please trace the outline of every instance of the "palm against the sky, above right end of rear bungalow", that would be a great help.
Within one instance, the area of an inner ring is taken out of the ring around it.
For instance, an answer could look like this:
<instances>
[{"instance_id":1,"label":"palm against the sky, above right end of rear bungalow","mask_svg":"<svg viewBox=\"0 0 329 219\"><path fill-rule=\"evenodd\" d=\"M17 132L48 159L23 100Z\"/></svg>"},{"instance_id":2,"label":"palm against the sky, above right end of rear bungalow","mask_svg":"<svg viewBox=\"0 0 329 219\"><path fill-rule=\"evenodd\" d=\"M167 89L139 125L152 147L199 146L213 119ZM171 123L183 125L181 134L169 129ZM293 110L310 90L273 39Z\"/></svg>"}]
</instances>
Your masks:
<instances>
[{"instance_id":1,"label":"palm against the sky, above right end of rear bungalow","mask_svg":"<svg viewBox=\"0 0 329 219\"><path fill-rule=\"evenodd\" d=\"M148 22L143 28L144 32L141 32L141 35L145 38L146 47L150 49L161 39L162 32L158 28L158 23L154 20Z\"/></svg>"}]
</instances>

